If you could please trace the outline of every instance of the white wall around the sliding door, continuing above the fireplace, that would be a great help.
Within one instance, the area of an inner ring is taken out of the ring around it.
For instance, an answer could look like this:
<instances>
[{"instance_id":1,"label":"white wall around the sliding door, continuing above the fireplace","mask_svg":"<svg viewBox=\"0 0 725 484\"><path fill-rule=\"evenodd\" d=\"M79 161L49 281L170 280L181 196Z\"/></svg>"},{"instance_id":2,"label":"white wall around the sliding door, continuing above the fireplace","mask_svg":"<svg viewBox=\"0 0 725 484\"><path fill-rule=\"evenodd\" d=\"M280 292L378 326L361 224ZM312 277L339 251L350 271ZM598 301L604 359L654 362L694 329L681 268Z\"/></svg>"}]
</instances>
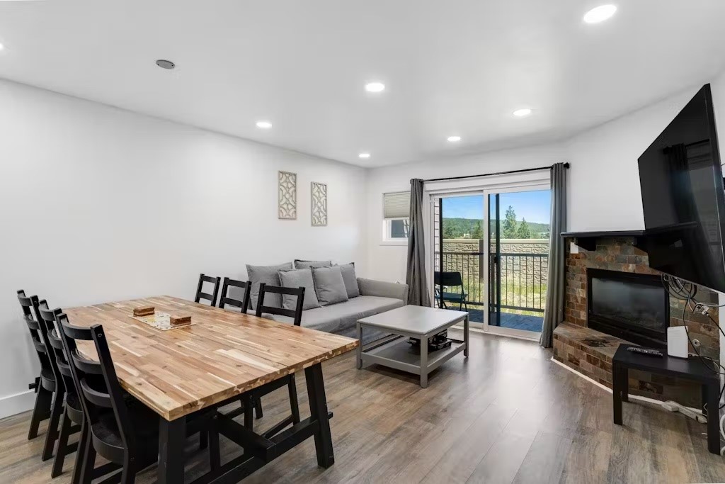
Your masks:
<instances>
[{"instance_id":1,"label":"white wall around the sliding door, continuing above the fireplace","mask_svg":"<svg viewBox=\"0 0 725 484\"><path fill-rule=\"evenodd\" d=\"M711 80L711 85L720 121L720 151L725 153L725 73ZM568 230L643 229L637 158L698 89L684 89L558 143L371 170L367 199L370 276L405 280L406 248L381 243L381 197L384 192L408 189L411 178L475 175L568 161Z\"/></svg>"}]
</instances>

